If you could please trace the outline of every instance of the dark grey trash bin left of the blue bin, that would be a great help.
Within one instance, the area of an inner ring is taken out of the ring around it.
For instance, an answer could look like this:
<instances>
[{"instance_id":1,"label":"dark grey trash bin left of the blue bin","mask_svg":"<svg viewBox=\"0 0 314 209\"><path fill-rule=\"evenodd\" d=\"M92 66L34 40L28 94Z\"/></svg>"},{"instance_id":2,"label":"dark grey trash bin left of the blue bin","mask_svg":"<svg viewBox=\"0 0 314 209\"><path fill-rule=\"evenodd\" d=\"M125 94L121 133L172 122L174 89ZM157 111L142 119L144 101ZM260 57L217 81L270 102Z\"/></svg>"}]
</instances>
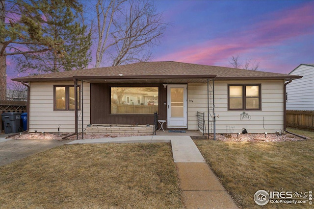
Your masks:
<instances>
[{"instance_id":1,"label":"dark grey trash bin left of the blue bin","mask_svg":"<svg viewBox=\"0 0 314 209\"><path fill-rule=\"evenodd\" d=\"M22 132L21 113L2 113L2 121L5 134Z\"/></svg>"}]
</instances>

